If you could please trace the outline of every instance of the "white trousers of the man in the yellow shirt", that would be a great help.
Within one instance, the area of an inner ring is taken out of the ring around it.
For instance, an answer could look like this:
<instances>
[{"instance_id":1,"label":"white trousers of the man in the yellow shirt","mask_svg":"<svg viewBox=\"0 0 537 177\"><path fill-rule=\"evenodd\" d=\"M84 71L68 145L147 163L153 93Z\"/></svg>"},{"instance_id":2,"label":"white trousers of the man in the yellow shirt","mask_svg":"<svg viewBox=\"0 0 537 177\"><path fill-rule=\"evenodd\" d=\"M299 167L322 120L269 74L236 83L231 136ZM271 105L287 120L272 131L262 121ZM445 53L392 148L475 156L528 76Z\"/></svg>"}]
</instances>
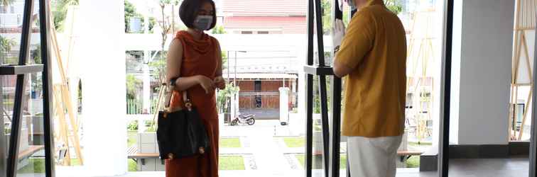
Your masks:
<instances>
[{"instance_id":1,"label":"white trousers of the man in the yellow shirt","mask_svg":"<svg viewBox=\"0 0 537 177\"><path fill-rule=\"evenodd\" d=\"M395 177L401 139L402 136L347 137L351 177Z\"/></svg>"}]
</instances>

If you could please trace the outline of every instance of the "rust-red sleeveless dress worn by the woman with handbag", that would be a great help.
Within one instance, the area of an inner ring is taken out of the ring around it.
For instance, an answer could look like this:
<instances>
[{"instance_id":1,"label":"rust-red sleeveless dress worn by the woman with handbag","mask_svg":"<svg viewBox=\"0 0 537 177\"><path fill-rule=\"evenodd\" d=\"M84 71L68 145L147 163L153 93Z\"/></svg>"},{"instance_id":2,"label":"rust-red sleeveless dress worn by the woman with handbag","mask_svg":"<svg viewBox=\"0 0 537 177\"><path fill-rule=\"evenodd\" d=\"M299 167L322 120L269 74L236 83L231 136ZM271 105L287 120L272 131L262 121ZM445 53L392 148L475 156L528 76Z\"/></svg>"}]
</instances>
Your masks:
<instances>
[{"instance_id":1,"label":"rust-red sleeveless dress worn by the woman with handbag","mask_svg":"<svg viewBox=\"0 0 537 177\"><path fill-rule=\"evenodd\" d=\"M195 40L186 31L179 31L175 38L183 44L180 76L203 75L214 80L219 62L217 40L205 33L200 40ZM219 130L215 91L207 94L200 85L196 85L188 89L187 93L205 124L211 143L210 149L201 157L166 160L166 177L217 177ZM183 106L182 96L182 93L174 91L170 107Z\"/></svg>"}]
</instances>

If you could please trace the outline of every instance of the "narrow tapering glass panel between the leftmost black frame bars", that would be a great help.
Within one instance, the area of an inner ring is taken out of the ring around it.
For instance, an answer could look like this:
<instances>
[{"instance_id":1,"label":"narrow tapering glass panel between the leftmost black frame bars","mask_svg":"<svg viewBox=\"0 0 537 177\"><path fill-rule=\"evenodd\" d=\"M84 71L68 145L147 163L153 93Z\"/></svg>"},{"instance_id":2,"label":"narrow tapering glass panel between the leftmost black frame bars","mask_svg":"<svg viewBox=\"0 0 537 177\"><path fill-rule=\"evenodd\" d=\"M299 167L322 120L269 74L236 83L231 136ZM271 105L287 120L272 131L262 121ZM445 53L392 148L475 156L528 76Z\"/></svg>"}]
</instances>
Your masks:
<instances>
[{"instance_id":1,"label":"narrow tapering glass panel between the leftmost black frame bars","mask_svg":"<svg viewBox=\"0 0 537 177\"><path fill-rule=\"evenodd\" d=\"M30 57L28 64L41 64L39 1L34 1L35 18L31 22ZM45 176L43 81L41 73L26 75L23 95L23 119L18 147L17 176Z\"/></svg>"}]
</instances>

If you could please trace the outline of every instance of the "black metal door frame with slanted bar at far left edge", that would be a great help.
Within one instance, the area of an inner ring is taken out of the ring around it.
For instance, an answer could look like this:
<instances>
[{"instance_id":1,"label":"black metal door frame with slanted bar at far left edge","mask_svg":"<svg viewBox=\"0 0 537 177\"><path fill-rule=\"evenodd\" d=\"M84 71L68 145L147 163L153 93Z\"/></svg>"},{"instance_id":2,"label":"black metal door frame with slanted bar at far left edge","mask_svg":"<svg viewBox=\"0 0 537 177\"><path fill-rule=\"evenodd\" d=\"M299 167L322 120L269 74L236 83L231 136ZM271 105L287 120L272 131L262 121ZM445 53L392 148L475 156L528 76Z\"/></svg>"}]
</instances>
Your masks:
<instances>
[{"instance_id":1,"label":"black metal door frame with slanted bar at far left edge","mask_svg":"<svg viewBox=\"0 0 537 177\"><path fill-rule=\"evenodd\" d=\"M50 82L50 35L48 29L50 27L50 18L48 13L48 3L50 0L38 0L39 6L39 24L40 24L40 47L41 47L41 60L43 64L28 65L28 58L30 57L30 45L31 45L31 33L33 25L33 7L34 1L37 0L25 0L23 11L23 25L21 33L21 47L18 56L18 64L16 65L0 65L0 75L16 75L16 91L15 100L13 105L13 117L11 117L11 137L9 139L9 147L5 147L4 141L8 139L4 138L4 116L0 116L1 136L0 140L3 142L0 144L0 176L1 177L15 177L17 174L18 165L18 147L19 138L21 136L21 119L22 108L24 103L24 91L26 91L26 74L43 72L43 119L44 119L44 139L45 139L45 176L53 177L54 173L54 159L53 159L53 121L50 117L51 107L51 82ZM1 89L1 86L0 86ZM0 92L1 93L1 92ZM1 97L1 95L0 95ZM1 99L1 98L0 98ZM0 103L1 100L0 100ZM3 105L0 105L3 106ZM4 155L7 152L7 159ZM4 161L6 159L6 161Z\"/></svg>"}]
</instances>

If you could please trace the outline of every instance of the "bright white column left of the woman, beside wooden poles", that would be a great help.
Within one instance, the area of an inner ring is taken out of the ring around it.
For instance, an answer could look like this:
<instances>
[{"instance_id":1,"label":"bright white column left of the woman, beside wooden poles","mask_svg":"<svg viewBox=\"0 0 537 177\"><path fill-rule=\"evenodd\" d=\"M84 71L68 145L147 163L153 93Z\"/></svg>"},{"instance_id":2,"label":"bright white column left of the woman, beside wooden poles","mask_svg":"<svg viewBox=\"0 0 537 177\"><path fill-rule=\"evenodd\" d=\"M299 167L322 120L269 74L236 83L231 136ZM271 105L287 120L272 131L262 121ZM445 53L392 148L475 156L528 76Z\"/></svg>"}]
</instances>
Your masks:
<instances>
[{"instance_id":1,"label":"bright white column left of the woman, beside wooden poles","mask_svg":"<svg viewBox=\"0 0 537 177\"><path fill-rule=\"evenodd\" d=\"M88 176L126 173L124 2L80 1L83 144Z\"/></svg>"}]
</instances>

